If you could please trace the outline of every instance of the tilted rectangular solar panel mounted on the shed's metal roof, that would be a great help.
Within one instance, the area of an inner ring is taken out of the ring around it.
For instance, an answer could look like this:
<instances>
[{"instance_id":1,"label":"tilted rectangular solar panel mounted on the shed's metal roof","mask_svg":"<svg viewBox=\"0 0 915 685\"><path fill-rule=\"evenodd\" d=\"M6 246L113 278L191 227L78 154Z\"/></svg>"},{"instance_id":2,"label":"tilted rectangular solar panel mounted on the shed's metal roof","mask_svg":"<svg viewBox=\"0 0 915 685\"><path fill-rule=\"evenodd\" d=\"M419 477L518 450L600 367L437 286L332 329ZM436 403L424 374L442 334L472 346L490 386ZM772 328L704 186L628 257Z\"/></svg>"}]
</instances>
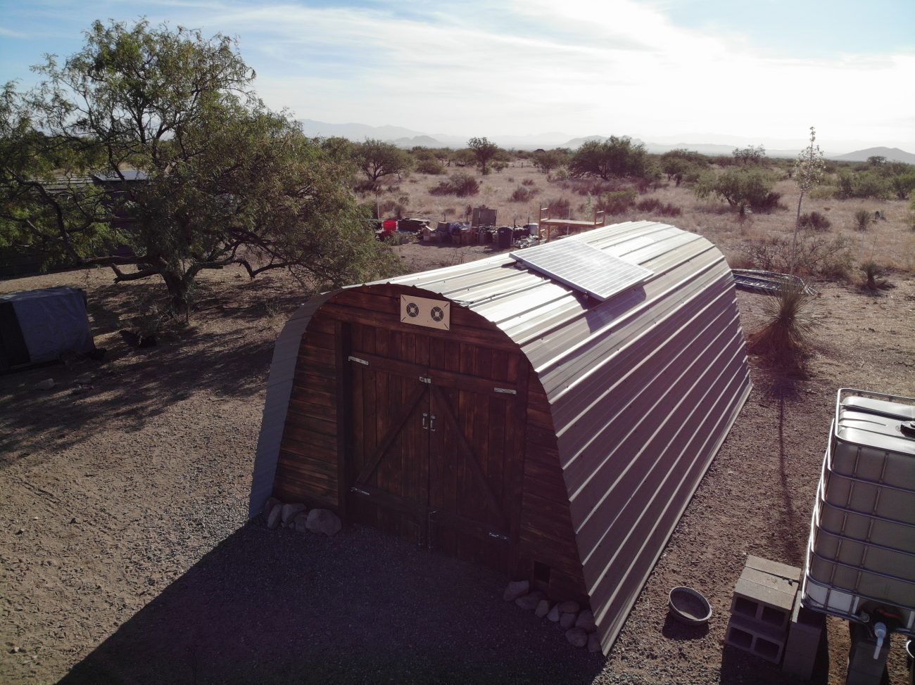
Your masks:
<instances>
[{"instance_id":1,"label":"tilted rectangular solar panel mounted on the shed's metal roof","mask_svg":"<svg viewBox=\"0 0 915 685\"><path fill-rule=\"evenodd\" d=\"M511 257L597 300L608 300L653 273L574 238L511 252Z\"/></svg>"}]
</instances>

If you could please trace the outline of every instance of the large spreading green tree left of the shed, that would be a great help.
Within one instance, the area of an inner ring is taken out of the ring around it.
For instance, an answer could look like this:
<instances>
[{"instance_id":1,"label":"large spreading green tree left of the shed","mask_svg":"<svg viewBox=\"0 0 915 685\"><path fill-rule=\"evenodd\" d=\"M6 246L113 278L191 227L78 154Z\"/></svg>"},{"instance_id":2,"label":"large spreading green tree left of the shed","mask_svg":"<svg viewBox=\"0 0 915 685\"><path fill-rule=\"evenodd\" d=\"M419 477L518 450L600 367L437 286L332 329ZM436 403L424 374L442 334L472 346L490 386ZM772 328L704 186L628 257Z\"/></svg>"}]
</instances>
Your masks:
<instances>
[{"instance_id":1,"label":"large spreading green tree left of the shed","mask_svg":"<svg viewBox=\"0 0 915 685\"><path fill-rule=\"evenodd\" d=\"M185 319L205 269L319 287L388 268L350 157L268 110L230 38L95 22L80 52L36 70L38 88L0 98L0 246L160 277Z\"/></svg>"}]
</instances>

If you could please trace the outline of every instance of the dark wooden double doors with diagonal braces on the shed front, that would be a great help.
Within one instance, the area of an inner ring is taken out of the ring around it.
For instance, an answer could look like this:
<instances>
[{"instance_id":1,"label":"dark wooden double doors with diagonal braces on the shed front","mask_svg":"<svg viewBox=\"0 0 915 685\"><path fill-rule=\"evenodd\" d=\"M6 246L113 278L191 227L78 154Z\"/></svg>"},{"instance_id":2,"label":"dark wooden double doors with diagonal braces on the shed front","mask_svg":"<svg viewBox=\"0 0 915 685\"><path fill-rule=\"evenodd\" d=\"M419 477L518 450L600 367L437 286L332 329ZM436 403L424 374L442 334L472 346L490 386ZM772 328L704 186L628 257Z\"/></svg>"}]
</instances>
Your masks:
<instances>
[{"instance_id":1,"label":"dark wooden double doors with diagonal braces on the shed front","mask_svg":"<svg viewBox=\"0 0 915 685\"><path fill-rule=\"evenodd\" d=\"M350 519L510 568L521 512L521 361L422 333L352 326Z\"/></svg>"}]
</instances>

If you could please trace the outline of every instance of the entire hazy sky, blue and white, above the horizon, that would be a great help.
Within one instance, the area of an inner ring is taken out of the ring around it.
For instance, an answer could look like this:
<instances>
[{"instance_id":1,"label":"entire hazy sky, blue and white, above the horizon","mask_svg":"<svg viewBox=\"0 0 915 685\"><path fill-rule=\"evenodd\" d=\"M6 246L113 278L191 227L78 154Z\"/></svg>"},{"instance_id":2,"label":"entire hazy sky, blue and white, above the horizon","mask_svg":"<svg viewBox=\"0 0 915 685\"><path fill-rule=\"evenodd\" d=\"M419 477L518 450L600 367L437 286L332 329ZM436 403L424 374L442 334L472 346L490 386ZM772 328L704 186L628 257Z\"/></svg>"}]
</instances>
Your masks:
<instances>
[{"instance_id":1,"label":"entire hazy sky, blue and white, above the horizon","mask_svg":"<svg viewBox=\"0 0 915 685\"><path fill-rule=\"evenodd\" d=\"M0 82L93 19L238 37L270 106L427 134L915 152L912 0L0 0Z\"/></svg>"}]
</instances>

